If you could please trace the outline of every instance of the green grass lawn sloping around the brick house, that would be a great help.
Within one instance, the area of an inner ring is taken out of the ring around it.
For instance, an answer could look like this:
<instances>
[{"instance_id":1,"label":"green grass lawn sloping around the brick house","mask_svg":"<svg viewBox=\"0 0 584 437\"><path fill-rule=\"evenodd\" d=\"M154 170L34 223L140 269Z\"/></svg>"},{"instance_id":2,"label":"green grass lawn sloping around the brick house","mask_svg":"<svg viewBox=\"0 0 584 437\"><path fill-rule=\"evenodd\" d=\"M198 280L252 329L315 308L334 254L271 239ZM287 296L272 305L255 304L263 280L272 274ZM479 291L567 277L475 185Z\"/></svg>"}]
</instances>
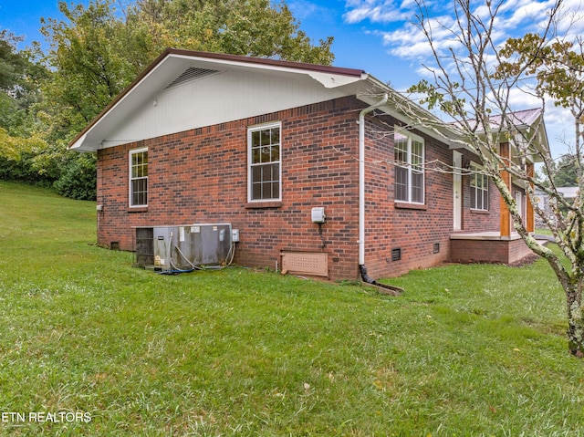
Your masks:
<instances>
[{"instance_id":1,"label":"green grass lawn sloping around the brick house","mask_svg":"<svg viewBox=\"0 0 584 437\"><path fill-rule=\"evenodd\" d=\"M92 245L95 203L17 184L0 221L0 435L584 435L543 261L416 271L386 297L157 276Z\"/></svg>"}]
</instances>

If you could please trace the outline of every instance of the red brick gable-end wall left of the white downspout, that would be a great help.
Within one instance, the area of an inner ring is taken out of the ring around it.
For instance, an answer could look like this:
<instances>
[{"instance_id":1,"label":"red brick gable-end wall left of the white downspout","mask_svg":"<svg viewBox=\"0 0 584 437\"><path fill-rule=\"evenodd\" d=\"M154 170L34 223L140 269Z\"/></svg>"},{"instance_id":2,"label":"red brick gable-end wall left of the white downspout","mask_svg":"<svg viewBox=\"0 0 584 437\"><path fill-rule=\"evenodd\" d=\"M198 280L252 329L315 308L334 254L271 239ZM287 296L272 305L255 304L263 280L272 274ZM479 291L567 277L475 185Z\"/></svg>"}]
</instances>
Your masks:
<instances>
[{"instance_id":1,"label":"red brick gable-end wall left of the white downspout","mask_svg":"<svg viewBox=\"0 0 584 437\"><path fill-rule=\"evenodd\" d=\"M331 100L248 120L99 151L98 241L133 249L131 226L230 223L240 231L235 262L274 268L280 251L319 252L311 209L324 206L332 278L357 278L357 99ZM282 202L247 203L247 128L282 122ZM128 208L129 151L147 146L148 208Z\"/></svg>"}]
</instances>

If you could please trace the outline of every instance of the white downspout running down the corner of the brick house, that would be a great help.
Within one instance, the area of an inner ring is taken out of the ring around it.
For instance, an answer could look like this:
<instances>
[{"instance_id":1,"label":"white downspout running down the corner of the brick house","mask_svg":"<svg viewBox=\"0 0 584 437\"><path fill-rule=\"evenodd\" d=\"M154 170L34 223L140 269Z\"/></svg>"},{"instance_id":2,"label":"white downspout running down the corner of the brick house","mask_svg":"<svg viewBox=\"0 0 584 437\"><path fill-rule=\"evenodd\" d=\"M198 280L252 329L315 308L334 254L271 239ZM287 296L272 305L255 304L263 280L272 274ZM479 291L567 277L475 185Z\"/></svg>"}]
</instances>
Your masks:
<instances>
[{"instance_id":1,"label":"white downspout running down the corner of the brick house","mask_svg":"<svg viewBox=\"0 0 584 437\"><path fill-rule=\"evenodd\" d=\"M359 113L359 272L364 282L375 284L375 279L367 276L365 267L365 115L387 103L388 95Z\"/></svg>"}]
</instances>

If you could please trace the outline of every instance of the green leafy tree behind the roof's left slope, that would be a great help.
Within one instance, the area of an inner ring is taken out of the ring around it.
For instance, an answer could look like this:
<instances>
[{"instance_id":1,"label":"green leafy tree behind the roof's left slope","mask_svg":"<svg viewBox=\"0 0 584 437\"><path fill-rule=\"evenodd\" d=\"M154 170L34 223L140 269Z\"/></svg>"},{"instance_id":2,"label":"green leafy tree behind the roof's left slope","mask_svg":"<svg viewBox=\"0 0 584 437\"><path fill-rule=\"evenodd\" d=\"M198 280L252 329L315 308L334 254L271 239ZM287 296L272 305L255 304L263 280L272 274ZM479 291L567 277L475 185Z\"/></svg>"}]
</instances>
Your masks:
<instances>
[{"instance_id":1,"label":"green leafy tree behind the roof's left slope","mask_svg":"<svg viewBox=\"0 0 584 437\"><path fill-rule=\"evenodd\" d=\"M50 42L44 60L54 71L43 87L50 140L70 139L137 75L127 60L113 3L94 0L86 8L61 1L67 21L41 19L41 33Z\"/></svg>"}]
</instances>

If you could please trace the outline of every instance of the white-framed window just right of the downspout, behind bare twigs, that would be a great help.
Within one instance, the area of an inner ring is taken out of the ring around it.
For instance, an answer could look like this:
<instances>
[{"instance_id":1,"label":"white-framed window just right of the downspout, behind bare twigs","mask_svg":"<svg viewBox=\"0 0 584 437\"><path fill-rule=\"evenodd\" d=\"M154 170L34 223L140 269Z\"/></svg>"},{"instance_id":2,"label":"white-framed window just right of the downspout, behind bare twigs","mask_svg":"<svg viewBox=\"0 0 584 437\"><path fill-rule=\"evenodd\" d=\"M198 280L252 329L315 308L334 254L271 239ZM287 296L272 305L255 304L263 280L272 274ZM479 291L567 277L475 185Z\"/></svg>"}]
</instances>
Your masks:
<instances>
[{"instance_id":1,"label":"white-framed window just right of the downspout, behind bare twigs","mask_svg":"<svg viewBox=\"0 0 584 437\"><path fill-rule=\"evenodd\" d=\"M395 130L395 200L424 203L424 144L411 132Z\"/></svg>"}]
</instances>

